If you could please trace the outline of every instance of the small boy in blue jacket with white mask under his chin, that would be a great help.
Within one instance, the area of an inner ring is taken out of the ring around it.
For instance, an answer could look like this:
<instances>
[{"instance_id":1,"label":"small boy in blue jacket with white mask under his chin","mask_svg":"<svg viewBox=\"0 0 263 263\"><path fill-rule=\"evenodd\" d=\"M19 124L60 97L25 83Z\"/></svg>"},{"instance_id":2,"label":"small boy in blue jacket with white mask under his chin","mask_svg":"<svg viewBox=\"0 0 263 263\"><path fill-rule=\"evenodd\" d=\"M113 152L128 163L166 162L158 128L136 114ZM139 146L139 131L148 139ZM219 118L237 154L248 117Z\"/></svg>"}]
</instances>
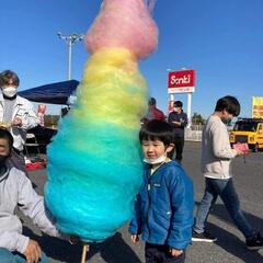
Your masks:
<instances>
[{"instance_id":1,"label":"small boy in blue jacket with white mask under his chin","mask_svg":"<svg viewBox=\"0 0 263 263\"><path fill-rule=\"evenodd\" d=\"M132 241L146 241L146 263L184 262L193 226L193 183L175 161L172 127L153 119L139 134L144 182L130 221Z\"/></svg>"}]
</instances>

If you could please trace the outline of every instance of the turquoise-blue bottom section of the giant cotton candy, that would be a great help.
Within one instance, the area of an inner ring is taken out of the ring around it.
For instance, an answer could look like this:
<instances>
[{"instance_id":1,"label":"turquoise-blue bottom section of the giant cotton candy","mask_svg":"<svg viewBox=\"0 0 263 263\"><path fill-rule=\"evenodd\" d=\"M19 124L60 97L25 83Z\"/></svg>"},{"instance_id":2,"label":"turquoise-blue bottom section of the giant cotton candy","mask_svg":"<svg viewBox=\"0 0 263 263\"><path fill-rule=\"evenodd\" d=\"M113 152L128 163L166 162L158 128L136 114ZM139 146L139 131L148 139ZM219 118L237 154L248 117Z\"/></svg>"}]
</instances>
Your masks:
<instances>
[{"instance_id":1,"label":"turquoise-blue bottom section of the giant cotton candy","mask_svg":"<svg viewBox=\"0 0 263 263\"><path fill-rule=\"evenodd\" d=\"M70 115L48 147L47 206L62 232L85 242L103 241L129 220L141 183L138 129L106 127Z\"/></svg>"}]
</instances>

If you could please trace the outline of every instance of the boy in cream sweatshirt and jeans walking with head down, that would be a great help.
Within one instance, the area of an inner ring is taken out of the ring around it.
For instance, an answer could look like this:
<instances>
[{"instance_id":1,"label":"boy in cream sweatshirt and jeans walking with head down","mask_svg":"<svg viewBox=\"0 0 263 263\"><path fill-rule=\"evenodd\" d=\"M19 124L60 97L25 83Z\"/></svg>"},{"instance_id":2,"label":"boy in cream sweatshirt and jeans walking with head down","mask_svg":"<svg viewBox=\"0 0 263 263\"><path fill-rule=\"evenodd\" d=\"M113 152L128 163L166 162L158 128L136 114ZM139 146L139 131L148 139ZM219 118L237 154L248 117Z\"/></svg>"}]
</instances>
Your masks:
<instances>
[{"instance_id":1,"label":"boy in cream sweatshirt and jeans walking with head down","mask_svg":"<svg viewBox=\"0 0 263 263\"><path fill-rule=\"evenodd\" d=\"M238 100L229 95L224 96L217 101L215 112L207 119L203 129L202 172L205 176L206 187L197 210L192 240L216 241L216 238L205 230L205 224L217 197L220 196L235 225L244 235L247 248L258 250L263 247L263 238L252 228L240 209L230 169L231 160L243 152L231 149L228 130L224 124L224 121L230 121L239 113Z\"/></svg>"}]
</instances>

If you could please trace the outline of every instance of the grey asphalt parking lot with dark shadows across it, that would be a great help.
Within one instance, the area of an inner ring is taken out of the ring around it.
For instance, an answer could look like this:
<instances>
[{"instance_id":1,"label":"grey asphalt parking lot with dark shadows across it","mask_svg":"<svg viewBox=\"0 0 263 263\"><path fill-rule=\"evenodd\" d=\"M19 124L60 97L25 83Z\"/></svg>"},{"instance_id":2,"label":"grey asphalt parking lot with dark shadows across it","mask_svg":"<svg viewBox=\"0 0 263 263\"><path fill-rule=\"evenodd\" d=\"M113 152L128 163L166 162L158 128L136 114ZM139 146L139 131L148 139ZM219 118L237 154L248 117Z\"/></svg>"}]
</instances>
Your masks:
<instances>
[{"instance_id":1,"label":"grey asphalt parking lot with dark shadows across it","mask_svg":"<svg viewBox=\"0 0 263 263\"><path fill-rule=\"evenodd\" d=\"M195 202L198 204L204 192L204 179L199 171L201 144L186 142L183 167L194 181ZM46 171L30 172L30 178L42 194L46 181ZM251 224L263 232L263 152L251 152L233 161L235 184L240 197L241 207ZM80 262L81 247L47 236L33 227L31 220L25 221L24 231L39 241L43 251L52 262ZM263 249L248 251L242 235L232 225L222 203L218 199L208 218L208 228L217 237L215 243L195 242L187 250L186 263L262 263ZM90 263L139 263L144 262L144 243L130 243L127 226L114 237L100 244L91 244L87 256Z\"/></svg>"}]
</instances>

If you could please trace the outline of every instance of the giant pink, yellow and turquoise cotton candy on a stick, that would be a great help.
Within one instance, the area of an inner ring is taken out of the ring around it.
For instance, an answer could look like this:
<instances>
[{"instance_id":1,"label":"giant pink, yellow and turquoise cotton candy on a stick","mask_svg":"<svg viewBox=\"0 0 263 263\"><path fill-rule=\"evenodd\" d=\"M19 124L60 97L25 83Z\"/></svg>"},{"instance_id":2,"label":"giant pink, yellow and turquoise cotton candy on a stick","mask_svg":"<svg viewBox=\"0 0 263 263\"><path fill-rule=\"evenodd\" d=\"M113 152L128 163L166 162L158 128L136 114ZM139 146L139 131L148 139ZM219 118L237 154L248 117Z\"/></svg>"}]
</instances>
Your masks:
<instances>
[{"instance_id":1,"label":"giant pink, yellow and turquoise cotton candy on a stick","mask_svg":"<svg viewBox=\"0 0 263 263\"><path fill-rule=\"evenodd\" d=\"M138 59L157 48L158 30L142 0L105 0L88 32L92 54L78 102L48 147L45 198L57 227L102 241L129 220L141 183L139 119L147 84Z\"/></svg>"}]
</instances>

